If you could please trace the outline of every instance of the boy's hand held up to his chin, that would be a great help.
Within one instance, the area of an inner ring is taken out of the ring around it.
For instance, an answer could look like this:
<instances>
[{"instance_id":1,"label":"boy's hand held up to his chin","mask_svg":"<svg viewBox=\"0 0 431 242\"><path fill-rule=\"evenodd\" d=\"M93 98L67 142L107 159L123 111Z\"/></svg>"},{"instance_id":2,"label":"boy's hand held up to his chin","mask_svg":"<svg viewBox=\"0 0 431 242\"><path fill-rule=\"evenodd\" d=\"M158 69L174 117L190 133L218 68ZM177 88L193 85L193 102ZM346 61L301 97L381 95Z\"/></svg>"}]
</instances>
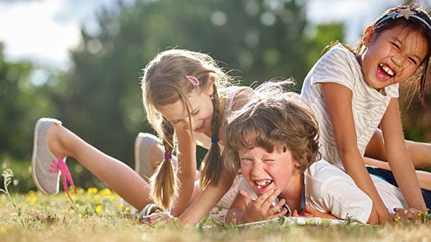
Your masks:
<instances>
[{"instance_id":1,"label":"boy's hand held up to his chin","mask_svg":"<svg viewBox=\"0 0 431 242\"><path fill-rule=\"evenodd\" d=\"M285 208L278 212L283 204L286 203L285 199L281 199L274 207L271 207L272 202L280 194L280 190L269 190L262 194L258 199L253 201L246 191L239 191L245 199L245 222L254 222L260 220L271 220L283 216L287 213Z\"/></svg>"}]
</instances>

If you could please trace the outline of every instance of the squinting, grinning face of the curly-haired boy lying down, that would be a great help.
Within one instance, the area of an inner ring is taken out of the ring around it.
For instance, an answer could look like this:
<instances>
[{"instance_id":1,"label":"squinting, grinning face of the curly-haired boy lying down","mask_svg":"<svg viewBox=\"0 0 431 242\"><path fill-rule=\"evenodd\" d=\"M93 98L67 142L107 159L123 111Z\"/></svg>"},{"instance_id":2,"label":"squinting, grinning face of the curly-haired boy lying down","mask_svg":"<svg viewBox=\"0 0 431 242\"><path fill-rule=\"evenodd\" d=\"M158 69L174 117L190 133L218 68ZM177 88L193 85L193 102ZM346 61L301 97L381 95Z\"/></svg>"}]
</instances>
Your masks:
<instances>
[{"instance_id":1,"label":"squinting, grinning face of the curly-haired boy lying down","mask_svg":"<svg viewBox=\"0 0 431 242\"><path fill-rule=\"evenodd\" d=\"M276 145L272 153L262 147L253 147L241 149L238 154L241 174L257 196L275 188L284 193L292 177L300 174L300 164L288 149L283 152L280 145Z\"/></svg>"}]
</instances>

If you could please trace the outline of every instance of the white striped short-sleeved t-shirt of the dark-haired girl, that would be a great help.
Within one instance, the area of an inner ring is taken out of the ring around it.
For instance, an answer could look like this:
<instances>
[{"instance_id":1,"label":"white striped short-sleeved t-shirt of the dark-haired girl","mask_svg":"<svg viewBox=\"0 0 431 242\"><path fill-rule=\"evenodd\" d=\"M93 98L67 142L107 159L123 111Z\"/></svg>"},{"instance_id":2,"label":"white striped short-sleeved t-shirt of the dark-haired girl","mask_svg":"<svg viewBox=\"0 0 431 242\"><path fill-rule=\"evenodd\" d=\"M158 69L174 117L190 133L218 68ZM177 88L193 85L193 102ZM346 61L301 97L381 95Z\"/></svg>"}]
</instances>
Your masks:
<instances>
[{"instance_id":1,"label":"white striped short-sleeved t-shirt of the dark-haired girl","mask_svg":"<svg viewBox=\"0 0 431 242\"><path fill-rule=\"evenodd\" d=\"M301 96L317 115L320 128L320 153L323 158L342 168L335 144L331 120L323 97L322 83L337 83L352 90L352 110L357 143L363 156L376 132L391 98L398 97L398 84L384 88L383 93L368 86L355 55L343 45L329 50L310 70L304 80ZM336 93L334 93L336 95Z\"/></svg>"}]
</instances>

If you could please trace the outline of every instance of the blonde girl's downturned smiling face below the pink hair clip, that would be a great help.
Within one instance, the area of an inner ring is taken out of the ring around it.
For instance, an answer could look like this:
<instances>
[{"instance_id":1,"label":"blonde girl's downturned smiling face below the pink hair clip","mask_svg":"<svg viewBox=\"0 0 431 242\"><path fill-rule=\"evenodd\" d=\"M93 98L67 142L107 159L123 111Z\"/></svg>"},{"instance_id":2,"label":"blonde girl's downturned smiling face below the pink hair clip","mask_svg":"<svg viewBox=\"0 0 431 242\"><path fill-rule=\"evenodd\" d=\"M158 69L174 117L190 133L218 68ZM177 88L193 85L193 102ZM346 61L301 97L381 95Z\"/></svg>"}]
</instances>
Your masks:
<instances>
[{"instance_id":1,"label":"blonde girl's downturned smiling face below the pink hair clip","mask_svg":"<svg viewBox=\"0 0 431 242\"><path fill-rule=\"evenodd\" d=\"M213 102L211 101L213 88L208 88L204 92L192 92L188 95L190 102L189 112L187 112L185 102L178 100L173 104L160 107L159 111L173 125L175 130L193 130L195 132L206 132L211 128L213 117Z\"/></svg>"}]
</instances>

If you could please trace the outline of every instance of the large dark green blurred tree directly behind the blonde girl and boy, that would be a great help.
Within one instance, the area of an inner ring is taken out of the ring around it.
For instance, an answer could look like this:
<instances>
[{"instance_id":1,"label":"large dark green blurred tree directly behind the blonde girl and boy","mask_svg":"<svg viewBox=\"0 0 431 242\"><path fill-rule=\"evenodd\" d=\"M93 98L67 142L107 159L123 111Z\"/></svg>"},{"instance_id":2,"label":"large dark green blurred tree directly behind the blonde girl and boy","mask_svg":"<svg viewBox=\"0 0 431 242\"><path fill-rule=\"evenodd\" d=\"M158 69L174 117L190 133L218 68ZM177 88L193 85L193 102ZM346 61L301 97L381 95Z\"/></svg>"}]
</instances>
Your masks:
<instances>
[{"instance_id":1,"label":"large dark green blurred tree directly behind the blonde girl and boy","mask_svg":"<svg viewBox=\"0 0 431 242\"><path fill-rule=\"evenodd\" d=\"M319 28L313 38L304 34L305 6L295 0L119 1L117 9L101 10L98 22L97 33L82 29L56 103L68 127L129 164L135 135L151 132L143 122L139 77L158 52L175 47L209 53L243 71L243 85L290 76L301 84L310 60L318 58L309 53L330 43L318 40ZM324 40L340 39L338 28L328 25Z\"/></svg>"}]
</instances>

